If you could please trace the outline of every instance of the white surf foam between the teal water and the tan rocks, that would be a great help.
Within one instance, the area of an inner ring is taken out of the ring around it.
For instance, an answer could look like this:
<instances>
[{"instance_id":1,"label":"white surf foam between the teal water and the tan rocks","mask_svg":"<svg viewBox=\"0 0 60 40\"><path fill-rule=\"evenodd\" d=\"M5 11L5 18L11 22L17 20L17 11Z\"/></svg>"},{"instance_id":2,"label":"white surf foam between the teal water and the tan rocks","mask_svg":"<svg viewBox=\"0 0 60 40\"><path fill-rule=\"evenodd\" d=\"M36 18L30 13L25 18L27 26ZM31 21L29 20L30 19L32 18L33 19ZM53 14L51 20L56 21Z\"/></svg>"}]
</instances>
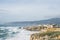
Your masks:
<instances>
[{"instance_id":1,"label":"white surf foam between the teal water and the tan rocks","mask_svg":"<svg viewBox=\"0 0 60 40\"><path fill-rule=\"evenodd\" d=\"M30 35L36 32L27 31L25 29L18 29L16 27L9 27L10 32L18 32L14 37L7 37L6 40L30 40Z\"/></svg>"}]
</instances>

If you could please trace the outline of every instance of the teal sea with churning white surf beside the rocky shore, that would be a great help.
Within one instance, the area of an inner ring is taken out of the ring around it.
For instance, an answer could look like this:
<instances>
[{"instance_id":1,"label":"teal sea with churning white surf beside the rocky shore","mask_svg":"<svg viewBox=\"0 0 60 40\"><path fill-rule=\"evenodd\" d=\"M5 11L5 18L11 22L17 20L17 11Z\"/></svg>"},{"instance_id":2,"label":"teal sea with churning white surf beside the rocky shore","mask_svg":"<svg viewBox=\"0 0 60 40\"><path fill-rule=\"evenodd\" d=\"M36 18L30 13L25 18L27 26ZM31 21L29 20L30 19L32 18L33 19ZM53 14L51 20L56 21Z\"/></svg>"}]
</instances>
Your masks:
<instances>
[{"instance_id":1,"label":"teal sea with churning white surf beside the rocky shore","mask_svg":"<svg viewBox=\"0 0 60 40\"><path fill-rule=\"evenodd\" d=\"M18 27L0 27L0 40L30 40L32 33L36 32Z\"/></svg>"}]
</instances>

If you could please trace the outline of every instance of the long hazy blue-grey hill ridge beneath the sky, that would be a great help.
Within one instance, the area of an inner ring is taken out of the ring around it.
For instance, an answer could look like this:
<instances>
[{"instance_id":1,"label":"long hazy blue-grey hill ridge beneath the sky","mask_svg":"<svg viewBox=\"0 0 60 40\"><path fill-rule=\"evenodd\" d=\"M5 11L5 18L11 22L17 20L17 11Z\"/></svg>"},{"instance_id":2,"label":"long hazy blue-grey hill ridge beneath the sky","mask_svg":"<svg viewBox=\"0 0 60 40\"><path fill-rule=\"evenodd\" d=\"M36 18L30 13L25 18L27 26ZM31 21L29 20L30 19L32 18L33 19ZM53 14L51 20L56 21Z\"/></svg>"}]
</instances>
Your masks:
<instances>
[{"instance_id":1,"label":"long hazy blue-grey hill ridge beneath the sky","mask_svg":"<svg viewBox=\"0 0 60 40\"><path fill-rule=\"evenodd\" d=\"M24 22L9 22L3 24L4 26L30 26L38 24L60 24L60 18L51 18L47 20L40 21L24 21Z\"/></svg>"}]
</instances>

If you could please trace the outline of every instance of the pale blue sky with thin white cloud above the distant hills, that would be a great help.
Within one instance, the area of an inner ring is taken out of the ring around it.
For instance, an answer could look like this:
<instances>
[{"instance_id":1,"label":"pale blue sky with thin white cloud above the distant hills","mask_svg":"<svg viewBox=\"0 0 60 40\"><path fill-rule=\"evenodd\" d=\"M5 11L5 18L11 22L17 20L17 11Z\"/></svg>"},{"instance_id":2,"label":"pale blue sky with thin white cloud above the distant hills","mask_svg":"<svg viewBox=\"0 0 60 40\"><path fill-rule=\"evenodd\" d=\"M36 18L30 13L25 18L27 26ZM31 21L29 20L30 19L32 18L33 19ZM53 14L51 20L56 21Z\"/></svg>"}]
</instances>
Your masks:
<instances>
[{"instance_id":1,"label":"pale blue sky with thin white cloud above the distant hills","mask_svg":"<svg viewBox=\"0 0 60 40\"><path fill-rule=\"evenodd\" d=\"M0 23L60 16L60 0L0 0Z\"/></svg>"}]
</instances>

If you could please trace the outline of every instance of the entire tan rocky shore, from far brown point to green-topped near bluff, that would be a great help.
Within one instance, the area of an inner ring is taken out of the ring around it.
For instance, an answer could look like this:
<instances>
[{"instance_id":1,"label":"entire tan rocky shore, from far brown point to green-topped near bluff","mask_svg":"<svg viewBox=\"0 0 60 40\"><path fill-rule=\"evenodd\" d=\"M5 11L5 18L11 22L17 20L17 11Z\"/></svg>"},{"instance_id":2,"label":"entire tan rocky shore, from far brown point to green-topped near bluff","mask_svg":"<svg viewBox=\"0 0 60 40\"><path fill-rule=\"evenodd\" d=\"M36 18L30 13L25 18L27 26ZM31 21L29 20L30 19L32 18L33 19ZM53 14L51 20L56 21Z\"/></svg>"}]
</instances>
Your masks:
<instances>
[{"instance_id":1,"label":"entire tan rocky shore, from far brown point to green-topped near bluff","mask_svg":"<svg viewBox=\"0 0 60 40\"><path fill-rule=\"evenodd\" d=\"M30 35L30 40L60 40L60 27L57 25L38 25L26 27L29 31L40 31Z\"/></svg>"}]
</instances>

